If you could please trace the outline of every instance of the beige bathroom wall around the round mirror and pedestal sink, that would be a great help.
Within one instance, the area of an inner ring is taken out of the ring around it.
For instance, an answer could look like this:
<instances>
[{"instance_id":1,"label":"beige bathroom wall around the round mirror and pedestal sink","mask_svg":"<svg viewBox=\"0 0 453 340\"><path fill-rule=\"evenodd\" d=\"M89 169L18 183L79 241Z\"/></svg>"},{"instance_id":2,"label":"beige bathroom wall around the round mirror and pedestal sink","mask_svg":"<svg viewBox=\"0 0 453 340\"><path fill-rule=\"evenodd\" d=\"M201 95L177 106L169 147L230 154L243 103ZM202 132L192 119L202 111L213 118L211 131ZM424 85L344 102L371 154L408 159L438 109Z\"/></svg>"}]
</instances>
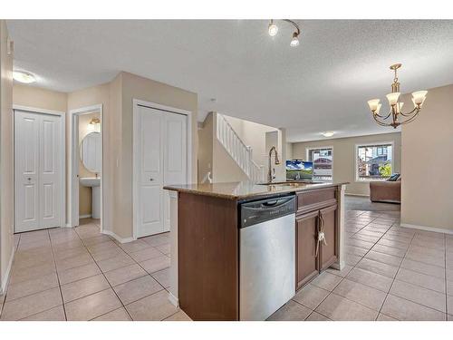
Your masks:
<instances>
[{"instance_id":1,"label":"beige bathroom wall around the round mirror and pedestal sink","mask_svg":"<svg viewBox=\"0 0 453 340\"><path fill-rule=\"evenodd\" d=\"M93 118L101 119L100 113L87 113L79 116L79 146L82 144L83 138L92 132L88 127ZM79 157L79 176L81 178L96 176L96 173L84 167L82 157ZM79 183L79 216L84 215L92 215L92 188L84 187Z\"/></svg>"}]
</instances>

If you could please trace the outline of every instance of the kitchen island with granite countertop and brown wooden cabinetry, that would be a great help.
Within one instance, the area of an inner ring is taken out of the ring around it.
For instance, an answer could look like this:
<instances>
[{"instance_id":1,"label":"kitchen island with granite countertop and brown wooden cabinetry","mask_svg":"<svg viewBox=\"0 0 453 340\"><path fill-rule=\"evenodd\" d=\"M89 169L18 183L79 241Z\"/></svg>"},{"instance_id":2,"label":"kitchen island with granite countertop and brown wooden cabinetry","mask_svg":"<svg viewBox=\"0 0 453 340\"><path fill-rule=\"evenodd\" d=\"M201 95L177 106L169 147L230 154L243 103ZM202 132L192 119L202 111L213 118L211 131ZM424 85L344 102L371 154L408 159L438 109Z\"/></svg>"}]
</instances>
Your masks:
<instances>
[{"instance_id":1,"label":"kitchen island with granite countertop and brown wooden cabinetry","mask_svg":"<svg viewBox=\"0 0 453 340\"><path fill-rule=\"evenodd\" d=\"M255 304L255 299L265 303L265 299L272 296L260 296L259 282L248 285L249 290L243 289L250 271L244 271L248 249L244 248L247 244L241 230L248 222L241 219L241 207L254 202L269 202L269 199L275 207L280 203L274 201L293 205L292 211L286 213L286 227L281 227L282 232L289 230L293 237L285 238L286 241L281 242L286 243L275 247L279 234L275 230L273 234L267 233L267 238L275 240L262 238L264 247L274 247L274 252L255 258L255 269L275 263L268 257L281 255L284 258L281 267L291 266L293 274L293 286L287 300L326 268L341 270L345 184L235 182L164 187L170 190L170 301L193 320L262 317L246 316L244 306L249 305L249 301ZM263 206L265 204L268 203ZM288 253L293 256L293 261L284 257ZM279 259L276 260L278 263ZM273 281L273 275L275 279L286 275L278 266L269 267L265 274L263 292L268 281ZM251 280L258 278L254 276Z\"/></svg>"}]
</instances>

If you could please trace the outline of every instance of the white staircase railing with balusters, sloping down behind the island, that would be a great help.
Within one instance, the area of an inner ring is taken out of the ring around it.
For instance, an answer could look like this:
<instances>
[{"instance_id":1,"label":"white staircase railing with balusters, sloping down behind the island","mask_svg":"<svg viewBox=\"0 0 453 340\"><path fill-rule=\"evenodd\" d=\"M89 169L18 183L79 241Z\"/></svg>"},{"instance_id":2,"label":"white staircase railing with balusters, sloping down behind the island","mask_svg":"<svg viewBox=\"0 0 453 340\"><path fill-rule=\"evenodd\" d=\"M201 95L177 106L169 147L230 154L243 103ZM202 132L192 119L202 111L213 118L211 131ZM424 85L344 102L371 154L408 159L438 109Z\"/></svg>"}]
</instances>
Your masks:
<instances>
[{"instance_id":1,"label":"white staircase railing with balusters, sloping down behind the island","mask_svg":"<svg viewBox=\"0 0 453 340\"><path fill-rule=\"evenodd\" d=\"M226 152L236 161L237 166L244 171L249 180L254 182L265 180L264 167L260 167L253 160L252 148L246 146L220 113L217 113L217 141L223 145Z\"/></svg>"}]
</instances>

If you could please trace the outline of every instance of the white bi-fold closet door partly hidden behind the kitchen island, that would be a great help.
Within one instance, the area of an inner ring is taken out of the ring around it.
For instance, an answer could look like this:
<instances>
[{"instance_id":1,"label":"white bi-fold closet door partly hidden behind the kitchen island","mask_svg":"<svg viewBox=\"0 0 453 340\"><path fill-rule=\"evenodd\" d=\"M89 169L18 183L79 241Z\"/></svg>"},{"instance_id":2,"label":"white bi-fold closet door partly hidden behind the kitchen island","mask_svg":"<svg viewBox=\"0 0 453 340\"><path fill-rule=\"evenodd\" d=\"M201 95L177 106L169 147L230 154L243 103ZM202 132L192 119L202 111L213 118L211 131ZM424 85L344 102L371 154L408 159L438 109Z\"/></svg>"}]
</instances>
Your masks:
<instances>
[{"instance_id":1,"label":"white bi-fold closet door partly hidden behind the kitchen island","mask_svg":"<svg viewBox=\"0 0 453 340\"><path fill-rule=\"evenodd\" d=\"M169 231L169 184L187 183L188 117L138 105L134 117L134 214L138 238Z\"/></svg>"}]
</instances>

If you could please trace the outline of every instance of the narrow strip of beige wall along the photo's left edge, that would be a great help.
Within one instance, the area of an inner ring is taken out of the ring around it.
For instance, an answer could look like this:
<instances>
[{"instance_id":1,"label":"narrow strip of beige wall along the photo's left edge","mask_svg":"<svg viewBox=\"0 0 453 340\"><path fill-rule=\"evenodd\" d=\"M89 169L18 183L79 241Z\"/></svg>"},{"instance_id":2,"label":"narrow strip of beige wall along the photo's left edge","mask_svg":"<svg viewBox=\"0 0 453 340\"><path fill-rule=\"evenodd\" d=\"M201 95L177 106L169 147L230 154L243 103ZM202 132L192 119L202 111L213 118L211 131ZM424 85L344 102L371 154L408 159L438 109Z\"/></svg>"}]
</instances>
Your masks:
<instances>
[{"instance_id":1,"label":"narrow strip of beige wall along the photo's left edge","mask_svg":"<svg viewBox=\"0 0 453 340\"><path fill-rule=\"evenodd\" d=\"M14 248L13 55L0 20L0 293L6 285Z\"/></svg>"}]
</instances>

